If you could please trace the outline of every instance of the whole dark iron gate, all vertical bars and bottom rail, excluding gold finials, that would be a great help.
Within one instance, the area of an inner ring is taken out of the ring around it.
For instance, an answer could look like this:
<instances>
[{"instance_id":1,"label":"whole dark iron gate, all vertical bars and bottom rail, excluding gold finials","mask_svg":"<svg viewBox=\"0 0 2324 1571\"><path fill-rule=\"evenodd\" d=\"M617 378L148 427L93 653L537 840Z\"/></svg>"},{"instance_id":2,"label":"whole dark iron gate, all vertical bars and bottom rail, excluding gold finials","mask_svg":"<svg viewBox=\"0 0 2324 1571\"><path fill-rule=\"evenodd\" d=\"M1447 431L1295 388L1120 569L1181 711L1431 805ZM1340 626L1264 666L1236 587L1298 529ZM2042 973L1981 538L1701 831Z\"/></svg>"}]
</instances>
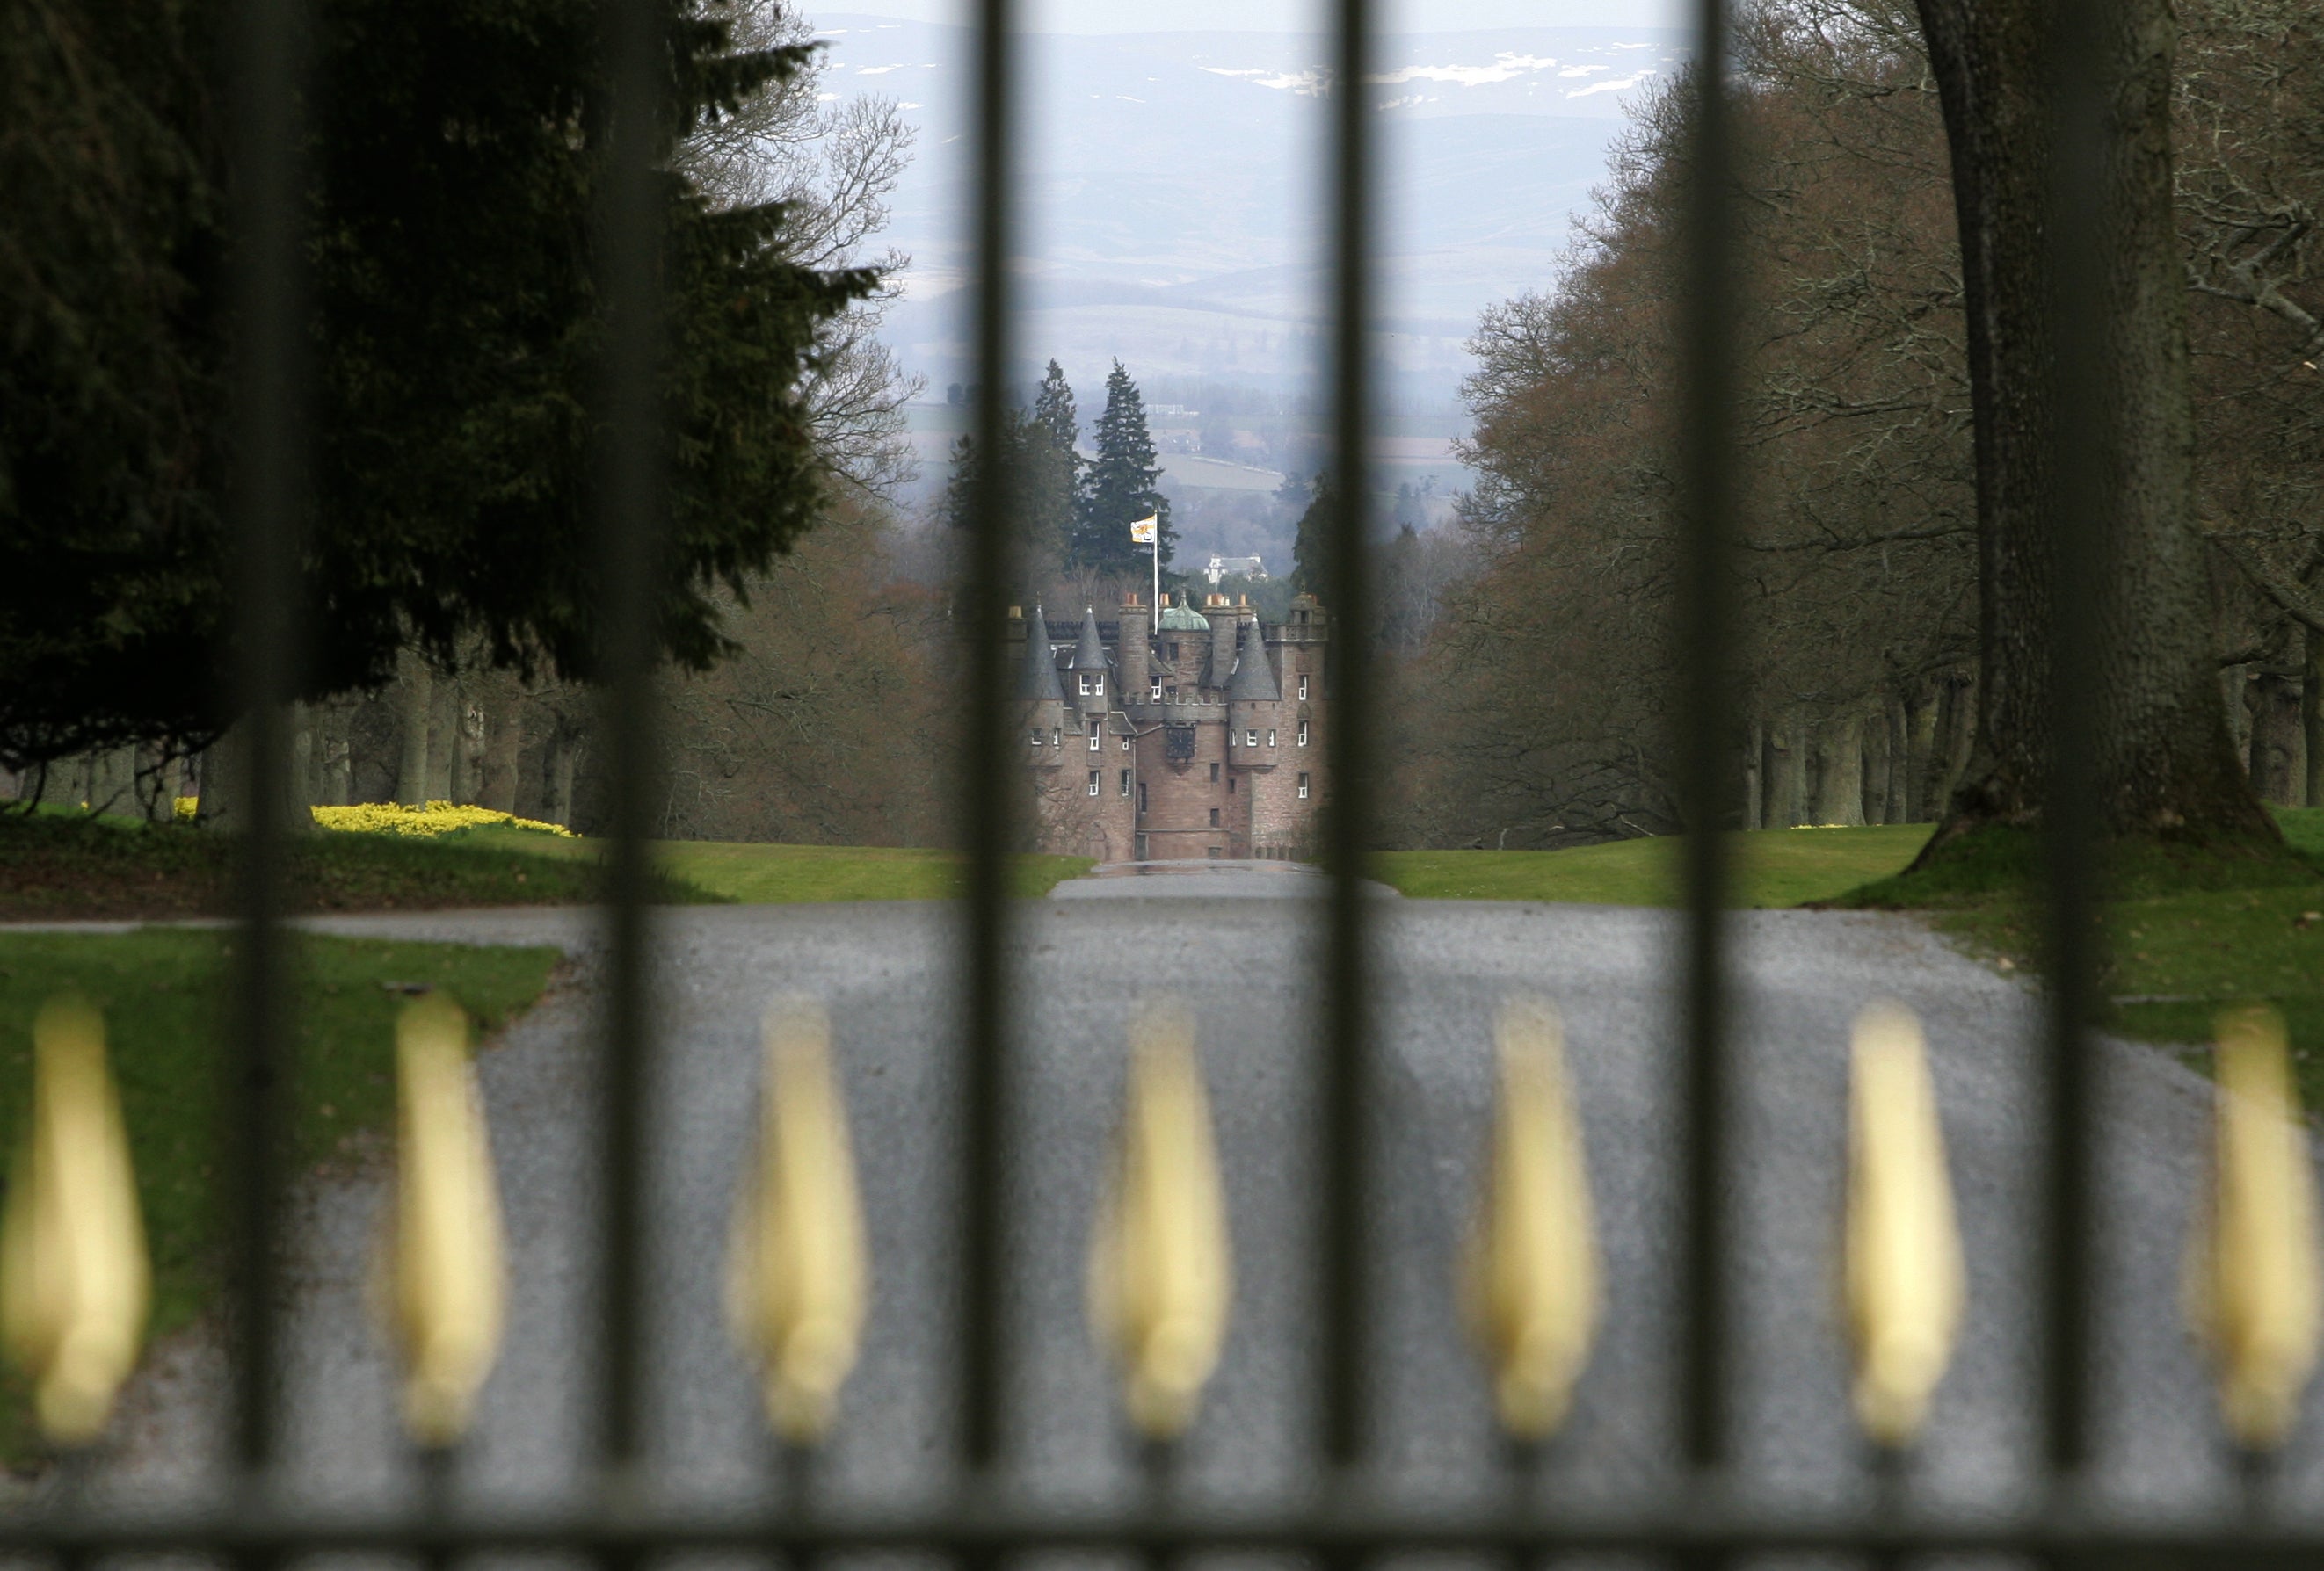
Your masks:
<instances>
[{"instance_id":1,"label":"whole dark iron gate, all vertical bars and bottom rail, excluding gold finials","mask_svg":"<svg viewBox=\"0 0 2324 1571\"><path fill-rule=\"evenodd\" d=\"M304 0L242 0L235 44L235 125L242 172L239 200L239 693L251 716L251 769L277 779L288 765L284 706L293 697L297 625L293 616L295 558L302 514L302 286L300 286L300 137L297 95L304 74ZM2059 156L2052 193L2054 267L2059 288L2059 407L2064 409L2061 579L2087 572L2099 551L2096 474L2087 437L2099 418L2082 390L2096 356L2099 158L2106 102L2096 63L2087 58L2099 33L2099 0L2061 0L2064 49ZM1734 672L1734 607L1727 544L1734 523L1734 351L1736 307L1734 223L1727 211L1731 172L1731 114L1724 63L1729 7L1697 5L1697 102L1690 137L1694 174L1685 209L1685 297L1680 300L1685 407L1683 486L1678 500L1683 572L1676 618L1685 681L1678 702L1678 781L1683 818L1715 825L1741 799L1738 751L1729 737ZM1367 476L1371 381L1367 325L1373 311L1369 253L1373 225L1373 116L1357 88L1369 77L1376 14L1371 0L1334 0L1329 93L1332 139L1332 465L1336 502L1327 602L1343 627L1369 625L1373 604ZM967 848L964 997L960 1078L960 1241L962 1297L957 1334L957 1436L951 1490L937 1504L841 1508L816 1499L739 1506L667 1506L641 1492L641 1413L646 1406L646 1278L641 1269L646 1122L641 1109L658 1041L648 1011L646 897L651 823L651 583L662 535L662 490L655 472L655 409L660 309L655 295L653 128L660 123L660 40L651 0L607 0L604 35L618 112L614 177L602 214L604 297L611 353L604 386L611 442L600 488L600 572L604 583L611 737L611 941L604 974L602 1074L602 1206L597 1278L597 1443L595 1464L607 1487L581 1506L469 1506L423 1497L404 1508L332 1508L286 1497L272 1487L281 1466L277 1415L277 1257L284 1234L281 1162L288 1083L284 911L279 874L286 846L286 799L251 792L251 823L242 860L242 937L237 1016L228 1034L232 1167L232 1390L235 1480L198 1508L88 1511L58 1494L51 1508L0 1520L0 1545L42 1550L63 1564L95 1552L202 1550L244 1564L272 1564L316 1550L395 1550L430 1562L469 1550L579 1548L607 1564L695 1548L755 1548L813 1557L832 1550L916 1548L983 1566L999 1557L1057 1548L1183 1552L1206 1548L1299 1550L1327 1566L1355 1566L1392 1550L1466 1550L1529 1559L1557 1552L1650 1552L1687 1564L1741 1555L1796 1550L1850 1552L1878 1559L1938 1552L2013 1552L2043 1559L2106 1562L2113 1557L2180 1555L2236 1564L2324 1557L2324 1525L2278 1520L2257 1497L2168 1522L2126 1520L2089 1504L2080 1490L2089 1464L2089 1236L2092 1236L2092 846L2078 813L2052 818L2047 844L2050 983L2045 992L2043 1153L2036 1262L2040 1283L2043 1490L2015 1511L1945 1513L1908 1494L1882 1492L1857 1506L1783 1506L1757 1499L1729 1473L1734 1385L1729 1329L1729 1236L1722 1192L1743 1153L1729 1146L1731 1085L1727 951L1722 909L1727 892L1724 839L1697 832L1685 839L1685 946L1676 990L1683 1002L1683 1085L1678 1120L1669 1129L1680 1164L1676 1250L1680 1334L1671 1357L1678 1434L1685 1471L1666 1490L1631 1506L1543 1506L1525 1499L1487 1506L1418 1506L1380 1501L1357 1487L1367 1459L1367 1109L1376 1097L1373 983L1367 967L1369 902L1362 860L1371 825L1371 779L1378 755L1376 681L1369 641L1343 637L1334 648L1334 713L1329 767L1334 811L1327 816L1322 860L1332 892L1322 904L1322 1055L1313 1139L1320 1160L1318 1225L1313 1236L1313 1301L1322 1306L1320 1385L1313 1415L1315 1459L1311 1487L1271 1508L1192 1506L1153 1497L1127 1508L1037 1506L1013 1497L1002 1480L1004 1434L1004 1215L1011 1132L1004 1099L1009 1043L1018 1030L1009 988L1009 846L1013 734L1006 711L1006 590L1009 497L997 467L978 469L971 500L971 548L960 595L969 623L964 802ZM1013 56L1016 0L976 0L976 277L974 277L974 430L983 451L1002 451L1004 376L1013 277L1011 202L1016 188L1018 63ZM2052 799L2087 799L2087 702L2096 690L2089 658L2089 611L2064 597L2054 646ZM442 1450L432 1452L442 1476ZM1155 1452L1157 1457L1162 1452ZM1157 1462L1162 1466L1162 1462Z\"/></svg>"}]
</instances>

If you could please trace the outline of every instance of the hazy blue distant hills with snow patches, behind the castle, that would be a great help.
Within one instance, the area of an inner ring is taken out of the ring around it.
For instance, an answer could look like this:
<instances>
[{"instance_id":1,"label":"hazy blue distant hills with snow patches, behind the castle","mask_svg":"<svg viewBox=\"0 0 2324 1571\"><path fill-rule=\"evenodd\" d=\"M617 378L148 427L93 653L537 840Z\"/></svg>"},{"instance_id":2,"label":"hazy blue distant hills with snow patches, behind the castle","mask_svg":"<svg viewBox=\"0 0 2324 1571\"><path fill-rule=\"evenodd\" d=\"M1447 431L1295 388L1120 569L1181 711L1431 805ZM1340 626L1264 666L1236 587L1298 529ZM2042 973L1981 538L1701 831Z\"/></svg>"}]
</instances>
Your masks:
<instances>
[{"instance_id":1,"label":"hazy blue distant hills with snow patches, behind the castle","mask_svg":"<svg viewBox=\"0 0 2324 1571\"><path fill-rule=\"evenodd\" d=\"M906 367L967 374L967 28L818 14L827 88L876 91L920 128L888 239L913 256L890 318ZM1294 388L1325 309L1327 46L1276 33L1027 35L1020 253L1027 360L1076 386L1139 376ZM1622 107L1685 60L1678 33L1399 35L1369 86L1383 128L1383 363L1446 402L1476 314L1555 277L1604 181Z\"/></svg>"}]
</instances>

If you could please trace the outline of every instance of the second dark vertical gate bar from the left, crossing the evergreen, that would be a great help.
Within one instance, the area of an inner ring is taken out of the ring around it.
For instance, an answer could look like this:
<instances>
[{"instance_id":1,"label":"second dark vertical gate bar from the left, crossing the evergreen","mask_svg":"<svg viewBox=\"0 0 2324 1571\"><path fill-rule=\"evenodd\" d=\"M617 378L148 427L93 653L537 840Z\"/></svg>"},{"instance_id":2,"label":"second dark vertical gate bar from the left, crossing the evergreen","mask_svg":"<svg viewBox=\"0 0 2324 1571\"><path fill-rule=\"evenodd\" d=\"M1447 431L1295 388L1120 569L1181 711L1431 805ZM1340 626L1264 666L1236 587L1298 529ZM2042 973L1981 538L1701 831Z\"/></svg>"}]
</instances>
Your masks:
<instances>
[{"instance_id":1,"label":"second dark vertical gate bar from the left, crossing the evergreen","mask_svg":"<svg viewBox=\"0 0 2324 1571\"><path fill-rule=\"evenodd\" d=\"M600 1446L604 1462L641 1459L646 1411L644 1232L646 1113L651 1095L651 978L646 895L653 816L653 655L662 535L662 26L653 0L604 0L611 86L602 193L607 295L607 467L597 516L597 607L604 720L611 741L607 858L609 955L602 1036L600 1139Z\"/></svg>"}]
</instances>

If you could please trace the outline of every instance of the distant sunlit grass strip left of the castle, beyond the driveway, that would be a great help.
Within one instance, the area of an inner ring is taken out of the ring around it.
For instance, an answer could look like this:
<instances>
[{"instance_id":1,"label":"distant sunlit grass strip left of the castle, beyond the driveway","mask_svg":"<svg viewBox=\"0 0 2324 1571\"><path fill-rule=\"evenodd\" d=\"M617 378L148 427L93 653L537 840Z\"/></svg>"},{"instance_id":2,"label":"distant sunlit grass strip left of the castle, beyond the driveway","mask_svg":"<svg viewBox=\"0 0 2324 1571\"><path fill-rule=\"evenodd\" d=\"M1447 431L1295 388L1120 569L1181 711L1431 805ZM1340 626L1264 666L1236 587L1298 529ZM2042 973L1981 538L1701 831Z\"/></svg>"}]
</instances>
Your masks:
<instances>
[{"instance_id":1,"label":"distant sunlit grass strip left of the castle, beyond the driveway","mask_svg":"<svg viewBox=\"0 0 2324 1571\"><path fill-rule=\"evenodd\" d=\"M442 844L509 846L567 860L590 860L604 841L548 839L509 827L460 830ZM920 846L772 846L755 841L669 839L655 860L669 878L716 899L790 904L802 899L944 899L960 892L960 858ZM1090 871L1090 858L1020 855L1011 892L1048 895Z\"/></svg>"}]
</instances>

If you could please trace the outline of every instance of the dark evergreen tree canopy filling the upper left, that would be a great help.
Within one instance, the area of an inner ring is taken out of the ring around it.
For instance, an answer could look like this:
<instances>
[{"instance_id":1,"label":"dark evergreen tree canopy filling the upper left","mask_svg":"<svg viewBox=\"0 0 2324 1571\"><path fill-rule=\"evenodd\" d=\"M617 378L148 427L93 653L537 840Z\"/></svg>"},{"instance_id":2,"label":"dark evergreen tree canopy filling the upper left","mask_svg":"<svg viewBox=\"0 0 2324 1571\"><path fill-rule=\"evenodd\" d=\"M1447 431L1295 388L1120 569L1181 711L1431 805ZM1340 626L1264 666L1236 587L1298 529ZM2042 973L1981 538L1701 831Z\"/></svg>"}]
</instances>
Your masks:
<instances>
[{"instance_id":1,"label":"dark evergreen tree canopy filling the upper left","mask_svg":"<svg viewBox=\"0 0 2324 1571\"><path fill-rule=\"evenodd\" d=\"M198 746L214 674L230 342L230 181L207 86L223 7L9 7L0 186L0 762ZM609 86L588 0L325 0L309 93L307 695L374 686L414 637L595 669L590 495L602 314L593 223ZM672 0L669 146L806 60L737 49ZM19 200L19 198L12 198ZM783 246L776 205L662 177L672 574L662 648L725 651L720 593L809 523L802 386L871 290Z\"/></svg>"}]
</instances>

